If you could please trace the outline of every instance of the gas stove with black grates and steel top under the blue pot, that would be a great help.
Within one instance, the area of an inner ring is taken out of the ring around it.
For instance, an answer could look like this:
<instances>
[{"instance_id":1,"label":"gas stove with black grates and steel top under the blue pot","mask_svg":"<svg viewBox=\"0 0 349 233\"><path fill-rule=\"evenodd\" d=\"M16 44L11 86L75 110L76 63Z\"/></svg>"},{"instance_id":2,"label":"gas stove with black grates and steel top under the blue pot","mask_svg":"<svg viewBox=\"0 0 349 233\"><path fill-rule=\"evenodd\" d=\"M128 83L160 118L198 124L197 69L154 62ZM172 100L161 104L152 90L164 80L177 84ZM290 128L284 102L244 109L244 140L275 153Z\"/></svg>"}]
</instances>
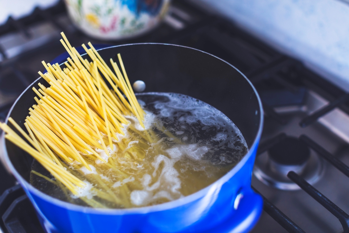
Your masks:
<instances>
[{"instance_id":1,"label":"gas stove with black grates and steel top under the blue pot","mask_svg":"<svg viewBox=\"0 0 349 233\"><path fill-rule=\"evenodd\" d=\"M74 45L106 43L77 30L62 2L0 26L0 121L43 71L41 61L62 53L60 31ZM263 196L264 211L253 233L349 232L348 93L231 21L184 0L173 0L163 23L148 34L107 43L140 42L214 54L257 88L266 118L252 186ZM0 175L0 231L44 232L15 179L3 167Z\"/></svg>"}]
</instances>

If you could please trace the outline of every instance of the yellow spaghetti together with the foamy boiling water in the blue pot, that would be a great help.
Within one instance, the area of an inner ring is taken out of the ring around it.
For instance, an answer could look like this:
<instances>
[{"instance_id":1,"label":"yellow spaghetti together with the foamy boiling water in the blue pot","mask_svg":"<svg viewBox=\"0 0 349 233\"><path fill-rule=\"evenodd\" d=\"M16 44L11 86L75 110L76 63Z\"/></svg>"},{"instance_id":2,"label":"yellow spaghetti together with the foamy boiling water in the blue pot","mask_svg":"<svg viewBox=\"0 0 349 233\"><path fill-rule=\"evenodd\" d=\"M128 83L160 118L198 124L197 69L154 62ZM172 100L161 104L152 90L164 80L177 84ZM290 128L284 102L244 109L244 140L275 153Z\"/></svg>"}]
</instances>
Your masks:
<instances>
[{"instance_id":1,"label":"yellow spaghetti together with the foamy boiling water in the blue pot","mask_svg":"<svg viewBox=\"0 0 349 233\"><path fill-rule=\"evenodd\" d=\"M64 68L43 62L49 86L32 88L27 132L12 118L22 137L0 125L34 157L37 189L96 208L160 204L207 187L247 153L241 132L217 109L175 93L136 98L120 54L108 66L88 43L84 59L62 37L70 57Z\"/></svg>"}]
</instances>

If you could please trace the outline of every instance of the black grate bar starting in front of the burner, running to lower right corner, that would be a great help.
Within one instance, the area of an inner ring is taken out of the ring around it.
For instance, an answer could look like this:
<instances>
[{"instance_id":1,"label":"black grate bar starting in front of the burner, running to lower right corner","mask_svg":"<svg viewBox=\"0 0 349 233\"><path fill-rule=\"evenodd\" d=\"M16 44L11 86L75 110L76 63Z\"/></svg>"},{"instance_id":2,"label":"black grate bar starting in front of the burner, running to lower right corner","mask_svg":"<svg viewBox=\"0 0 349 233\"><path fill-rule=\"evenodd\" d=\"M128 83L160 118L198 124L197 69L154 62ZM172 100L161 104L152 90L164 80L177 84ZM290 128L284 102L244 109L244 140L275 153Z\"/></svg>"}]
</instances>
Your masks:
<instances>
[{"instance_id":1,"label":"black grate bar starting in front of the burner, running to lower right corner","mask_svg":"<svg viewBox=\"0 0 349 233\"><path fill-rule=\"evenodd\" d=\"M287 174L290 180L295 182L300 188L302 188L307 194L315 199L318 203L324 206L329 212L331 212L336 218L339 219L342 224L344 233L349 233L349 215L340 209L337 205L331 202L325 195L319 190L315 189L311 184L305 181L302 177L295 172L289 172Z\"/></svg>"}]
</instances>

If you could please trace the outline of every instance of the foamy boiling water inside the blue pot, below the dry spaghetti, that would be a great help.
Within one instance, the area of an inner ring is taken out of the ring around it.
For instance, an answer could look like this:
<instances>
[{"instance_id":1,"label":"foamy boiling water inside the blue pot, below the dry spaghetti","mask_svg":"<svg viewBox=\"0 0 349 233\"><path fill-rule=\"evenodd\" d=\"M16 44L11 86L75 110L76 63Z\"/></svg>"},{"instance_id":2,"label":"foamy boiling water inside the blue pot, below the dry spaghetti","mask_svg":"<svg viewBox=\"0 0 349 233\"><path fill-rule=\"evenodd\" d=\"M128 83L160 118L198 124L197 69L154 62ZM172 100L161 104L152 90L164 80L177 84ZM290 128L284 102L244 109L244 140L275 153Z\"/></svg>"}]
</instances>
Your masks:
<instances>
[{"instance_id":1,"label":"foamy boiling water inside the blue pot, below the dry spaghetti","mask_svg":"<svg viewBox=\"0 0 349 233\"><path fill-rule=\"evenodd\" d=\"M226 174L247 153L241 132L224 114L192 97L173 93L137 95L145 115L143 129L134 117L118 135L108 161L89 160L67 169L88 185L78 196L36 161L31 184L63 201L105 208L128 208L172 201L207 187Z\"/></svg>"}]
</instances>

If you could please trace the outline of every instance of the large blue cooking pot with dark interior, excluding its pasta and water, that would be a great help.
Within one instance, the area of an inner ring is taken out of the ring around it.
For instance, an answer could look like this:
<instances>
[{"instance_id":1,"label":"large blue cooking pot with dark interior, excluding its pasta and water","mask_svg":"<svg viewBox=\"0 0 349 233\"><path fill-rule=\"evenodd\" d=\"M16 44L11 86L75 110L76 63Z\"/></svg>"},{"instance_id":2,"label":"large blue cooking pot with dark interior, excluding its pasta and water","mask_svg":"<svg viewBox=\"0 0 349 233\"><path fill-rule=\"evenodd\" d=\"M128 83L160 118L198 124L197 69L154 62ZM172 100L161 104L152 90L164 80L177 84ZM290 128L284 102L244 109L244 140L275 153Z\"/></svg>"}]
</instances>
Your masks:
<instances>
[{"instance_id":1,"label":"large blue cooking pot with dark interior, excluding its pasta and water","mask_svg":"<svg viewBox=\"0 0 349 233\"><path fill-rule=\"evenodd\" d=\"M129 44L104 48L99 53L105 61L117 60L117 53L121 53L131 83L143 80L146 92L181 93L222 111L242 132L249 151L227 174L189 196L147 207L93 209L60 201L30 185L31 156L2 137L6 165L35 206L45 230L60 233L250 231L262 211L262 199L251 189L251 176L263 126L261 101L251 82L226 61L184 46ZM38 88L38 82L45 83L42 78L32 83L8 114L23 129L28 109L35 104L32 87Z\"/></svg>"}]
</instances>

